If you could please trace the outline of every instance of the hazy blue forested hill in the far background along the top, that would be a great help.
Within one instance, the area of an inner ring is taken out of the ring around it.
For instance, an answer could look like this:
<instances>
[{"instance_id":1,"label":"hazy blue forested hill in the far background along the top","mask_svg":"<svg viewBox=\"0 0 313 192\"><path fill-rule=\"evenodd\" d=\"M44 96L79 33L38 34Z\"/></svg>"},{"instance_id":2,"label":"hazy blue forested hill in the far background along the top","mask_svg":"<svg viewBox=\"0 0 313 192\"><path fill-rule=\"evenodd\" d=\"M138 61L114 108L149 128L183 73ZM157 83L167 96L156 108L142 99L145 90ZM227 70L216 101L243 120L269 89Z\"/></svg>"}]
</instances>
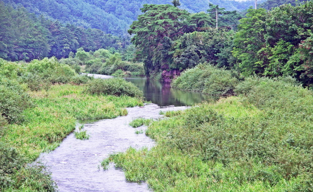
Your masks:
<instances>
[{"instance_id":1,"label":"hazy blue forested hill in the far background along the top","mask_svg":"<svg viewBox=\"0 0 313 192\"><path fill-rule=\"evenodd\" d=\"M142 14L140 8L145 3L172 4L171 0L3 0L13 8L25 7L37 16L44 15L50 20L74 24L84 28L96 28L105 33L123 35L131 23ZM260 2L260 1L259 1ZM196 13L206 11L209 3L218 4L226 10L243 10L254 5L254 1L229 0L181 0L180 8Z\"/></svg>"}]
</instances>

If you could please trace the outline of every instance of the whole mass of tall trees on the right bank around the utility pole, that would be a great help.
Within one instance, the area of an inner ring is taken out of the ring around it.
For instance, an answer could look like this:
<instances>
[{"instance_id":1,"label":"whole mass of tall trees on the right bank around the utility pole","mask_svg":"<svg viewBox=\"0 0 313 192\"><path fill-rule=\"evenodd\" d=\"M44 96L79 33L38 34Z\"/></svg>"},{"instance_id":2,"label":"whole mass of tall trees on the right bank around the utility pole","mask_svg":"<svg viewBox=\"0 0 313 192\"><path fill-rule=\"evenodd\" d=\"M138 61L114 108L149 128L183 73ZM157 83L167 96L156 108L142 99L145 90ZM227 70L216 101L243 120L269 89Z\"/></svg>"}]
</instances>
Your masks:
<instances>
[{"instance_id":1,"label":"whole mass of tall trees on the right bank around the utility pole","mask_svg":"<svg viewBox=\"0 0 313 192\"><path fill-rule=\"evenodd\" d=\"M147 76L173 78L166 71L183 71L199 63L236 71L237 76L292 76L312 86L313 2L281 5L271 11L249 9L237 30L195 27L214 26L210 12L217 9L219 23L233 23L233 14L211 5L209 13L188 13L172 5L144 5L130 34L137 57L144 59ZM236 16L236 17L237 17ZM236 28L235 28L236 29ZM161 76L162 74L162 76Z\"/></svg>"}]
</instances>

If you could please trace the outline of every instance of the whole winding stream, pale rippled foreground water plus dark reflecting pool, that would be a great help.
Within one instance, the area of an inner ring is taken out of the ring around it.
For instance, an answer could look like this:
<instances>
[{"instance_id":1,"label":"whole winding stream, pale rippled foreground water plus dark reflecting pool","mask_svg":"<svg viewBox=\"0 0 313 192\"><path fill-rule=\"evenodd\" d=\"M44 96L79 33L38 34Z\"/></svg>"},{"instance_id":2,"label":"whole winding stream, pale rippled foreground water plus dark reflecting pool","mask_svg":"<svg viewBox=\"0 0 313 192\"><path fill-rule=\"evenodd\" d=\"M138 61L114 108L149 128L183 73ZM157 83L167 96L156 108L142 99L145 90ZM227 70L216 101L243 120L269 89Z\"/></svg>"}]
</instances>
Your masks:
<instances>
[{"instance_id":1,"label":"whole winding stream, pale rippled foreground water plus dark reflecting pool","mask_svg":"<svg viewBox=\"0 0 313 192\"><path fill-rule=\"evenodd\" d=\"M110 78L107 75L95 75L99 78ZM145 134L135 134L128 125L132 119L159 118L159 112L166 110L186 109L188 105L201 103L204 100L216 99L201 93L184 92L172 89L169 85L146 78L128 77L127 81L135 83L144 92L146 100L153 104L143 108L127 108L128 115L115 119L102 119L94 122L82 122L90 134L88 140L76 139L69 134L58 148L50 153L41 154L50 166L52 177L57 181L60 192L143 192L149 191L146 183L131 183L125 179L124 172L113 164L108 170L100 166L100 161L108 154L125 151L128 147L152 147L154 142Z\"/></svg>"}]
</instances>

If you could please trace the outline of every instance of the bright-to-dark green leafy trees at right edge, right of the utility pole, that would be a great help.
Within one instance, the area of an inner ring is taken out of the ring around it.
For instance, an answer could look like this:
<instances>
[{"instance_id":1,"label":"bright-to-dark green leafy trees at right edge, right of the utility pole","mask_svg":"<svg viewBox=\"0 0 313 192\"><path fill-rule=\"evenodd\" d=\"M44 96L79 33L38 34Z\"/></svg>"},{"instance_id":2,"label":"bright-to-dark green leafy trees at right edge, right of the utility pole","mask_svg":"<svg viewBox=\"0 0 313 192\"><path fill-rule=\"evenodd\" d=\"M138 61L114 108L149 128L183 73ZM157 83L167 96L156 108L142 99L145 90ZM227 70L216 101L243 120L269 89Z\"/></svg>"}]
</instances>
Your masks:
<instances>
[{"instance_id":1,"label":"bright-to-dark green leafy trees at right edge, right of the utility pole","mask_svg":"<svg viewBox=\"0 0 313 192\"><path fill-rule=\"evenodd\" d=\"M249 9L240 20L233 55L244 76L292 76L312 84L311 23L313 2Z\"/></svg>"}]
</instances>

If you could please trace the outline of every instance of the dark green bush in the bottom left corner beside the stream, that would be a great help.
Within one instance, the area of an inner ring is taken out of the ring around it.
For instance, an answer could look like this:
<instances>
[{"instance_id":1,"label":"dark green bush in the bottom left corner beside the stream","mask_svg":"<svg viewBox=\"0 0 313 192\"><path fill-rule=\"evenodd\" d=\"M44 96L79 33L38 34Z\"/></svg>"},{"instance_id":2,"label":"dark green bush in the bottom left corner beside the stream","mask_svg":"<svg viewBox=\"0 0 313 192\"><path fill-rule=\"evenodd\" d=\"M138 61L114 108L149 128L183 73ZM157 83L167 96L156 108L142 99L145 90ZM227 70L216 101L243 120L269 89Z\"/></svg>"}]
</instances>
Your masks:
<instances>
[{"instance_id":1,"label":"dark green bush in the bottom left corner beside the stream","mask_svg":"<svg viewBox=\"0 0 313 192\"><path fill-rule=\"evenodd\" d=\"M27 162L15 148L0 142L0 190L55 192L56 183L44 163Z\"/></svg>"}]
</instances>

